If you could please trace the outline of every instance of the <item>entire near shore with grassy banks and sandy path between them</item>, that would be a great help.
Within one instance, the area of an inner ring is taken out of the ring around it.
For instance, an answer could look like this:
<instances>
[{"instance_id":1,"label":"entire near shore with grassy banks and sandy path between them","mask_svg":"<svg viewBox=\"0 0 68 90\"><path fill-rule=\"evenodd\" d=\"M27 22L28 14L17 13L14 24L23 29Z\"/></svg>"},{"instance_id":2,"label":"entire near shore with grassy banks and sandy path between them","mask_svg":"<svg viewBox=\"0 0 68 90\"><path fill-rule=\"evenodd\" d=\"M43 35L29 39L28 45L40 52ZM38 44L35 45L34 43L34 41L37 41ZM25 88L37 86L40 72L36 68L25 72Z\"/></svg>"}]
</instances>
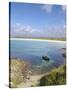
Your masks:
<instances>
[{"instance_id":1,"label":"entire near shore with grassy banks and sandy path between them","mask_svg":"<svg viewBox=\"0 0 68 90\"><path fill-rule=\"evenodd\" d=\"M66 84L66 66L60 66L44 75L32 75L30 64L24 60L11 60L9 87L35 87Z\"/></svg>"}]
</instances>

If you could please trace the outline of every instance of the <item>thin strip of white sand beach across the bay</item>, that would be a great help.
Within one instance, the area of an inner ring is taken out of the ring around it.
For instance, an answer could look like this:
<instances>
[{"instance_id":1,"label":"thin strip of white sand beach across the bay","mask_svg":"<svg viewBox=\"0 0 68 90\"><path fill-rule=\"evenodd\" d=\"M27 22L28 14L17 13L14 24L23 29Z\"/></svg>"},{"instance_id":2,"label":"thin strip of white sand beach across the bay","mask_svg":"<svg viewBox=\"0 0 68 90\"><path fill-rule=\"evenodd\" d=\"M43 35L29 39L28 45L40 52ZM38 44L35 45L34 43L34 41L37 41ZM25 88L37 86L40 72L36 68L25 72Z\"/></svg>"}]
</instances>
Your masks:
<instances>
[{"instance_id":1,"label":"thin strip of white sand beach across the bay","mask_svg":"<svg viewBox=\"0 0 68 90\"><path fill-rule=\"evenodd\" d=\"M66 43L66 41L60 41L60 40L41 40L41 39L25 39L25 38L10 38L10 40L31 40L31 41L45 41L45 42Z\"/></svg>"}]
</instances>

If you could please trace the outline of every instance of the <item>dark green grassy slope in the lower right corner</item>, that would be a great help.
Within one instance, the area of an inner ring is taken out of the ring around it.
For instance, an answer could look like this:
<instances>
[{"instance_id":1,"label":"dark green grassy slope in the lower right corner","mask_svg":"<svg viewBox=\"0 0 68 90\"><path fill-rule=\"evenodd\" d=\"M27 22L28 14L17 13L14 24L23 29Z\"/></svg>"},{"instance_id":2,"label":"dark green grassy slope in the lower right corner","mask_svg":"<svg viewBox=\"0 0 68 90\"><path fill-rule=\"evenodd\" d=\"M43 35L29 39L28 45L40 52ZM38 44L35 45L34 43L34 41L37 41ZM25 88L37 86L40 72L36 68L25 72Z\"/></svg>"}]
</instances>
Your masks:
<instances>
[{"instance_id":1,"label":"dark green grassy slope in the lower right corner","mask_svg":"<svg viewBox=\"0 0 68 90\"><path fill-rule=\"evenodd\" d=\"M54 69L40 79L39 86L66 84L66 66Z\"/></svg>"}]
</instances>

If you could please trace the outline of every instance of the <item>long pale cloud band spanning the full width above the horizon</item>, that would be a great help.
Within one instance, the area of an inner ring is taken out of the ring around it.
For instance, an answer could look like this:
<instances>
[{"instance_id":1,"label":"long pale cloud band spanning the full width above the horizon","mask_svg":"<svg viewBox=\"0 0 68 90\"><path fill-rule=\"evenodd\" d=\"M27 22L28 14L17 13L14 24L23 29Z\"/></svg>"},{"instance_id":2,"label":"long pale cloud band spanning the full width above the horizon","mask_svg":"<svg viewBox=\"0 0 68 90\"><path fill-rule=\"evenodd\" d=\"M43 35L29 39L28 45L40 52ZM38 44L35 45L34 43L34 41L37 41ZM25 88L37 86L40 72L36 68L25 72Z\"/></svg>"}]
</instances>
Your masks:
<instances>
[{"instance_id":1,"label":"long pale cloud band spanning the full width above the horizon","mask_svg":"<svg viewBox=\"0 0 68 90\"><path fill-rule=\"evenodd\" d=\"M15 24L16 25L16 24ZM20 37L65 37L66 25L50 26L44 29L32 28L30 25L20 25L11 28L11 36Z\"/></svg>"}]
</instances>

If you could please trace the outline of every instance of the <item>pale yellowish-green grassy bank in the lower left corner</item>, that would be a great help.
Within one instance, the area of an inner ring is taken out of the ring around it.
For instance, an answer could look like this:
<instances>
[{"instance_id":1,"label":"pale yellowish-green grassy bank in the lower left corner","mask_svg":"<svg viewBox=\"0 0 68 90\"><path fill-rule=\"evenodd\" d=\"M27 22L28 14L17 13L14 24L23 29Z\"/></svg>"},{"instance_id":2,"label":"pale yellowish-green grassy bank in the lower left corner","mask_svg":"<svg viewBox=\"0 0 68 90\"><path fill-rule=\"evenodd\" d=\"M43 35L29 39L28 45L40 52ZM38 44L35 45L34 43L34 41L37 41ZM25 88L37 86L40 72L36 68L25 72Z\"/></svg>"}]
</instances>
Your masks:
<instances>
[{"instance_id":1,"label":"pale yellowish-green grassy bank in the lower left corner","mask_svg":"<svg viewBox=\"0 0 68 90\"><path fill-rule=\"evenodd\" d=\"M10 64L10 87L17 87L26 81L29 74L29 64L23 60L11 60Z\"/></svg>"}]
</instances>

